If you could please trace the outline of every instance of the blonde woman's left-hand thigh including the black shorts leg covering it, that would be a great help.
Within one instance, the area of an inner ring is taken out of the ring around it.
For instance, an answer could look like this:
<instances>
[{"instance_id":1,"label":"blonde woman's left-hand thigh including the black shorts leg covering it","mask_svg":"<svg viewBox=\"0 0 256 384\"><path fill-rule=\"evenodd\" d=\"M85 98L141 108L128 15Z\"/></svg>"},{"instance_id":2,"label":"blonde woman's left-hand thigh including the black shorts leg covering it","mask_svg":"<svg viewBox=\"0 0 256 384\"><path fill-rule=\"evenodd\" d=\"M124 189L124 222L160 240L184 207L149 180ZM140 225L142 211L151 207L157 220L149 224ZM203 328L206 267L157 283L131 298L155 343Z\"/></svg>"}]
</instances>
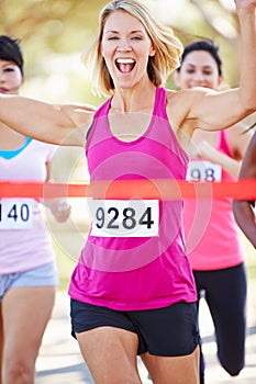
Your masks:
<instances>
[{"instance_id":1,"label":"blonde woman's left-hand thigh including the black shorts leg covering it","mask_svg":"<svg viewBox=\"0 0 256 384\"><path fill-rule=\"evenodd\" d=\"M71 300L71 327L94 383L138 384L138 337L125 312Z\"/></svg>"}]
</instances>

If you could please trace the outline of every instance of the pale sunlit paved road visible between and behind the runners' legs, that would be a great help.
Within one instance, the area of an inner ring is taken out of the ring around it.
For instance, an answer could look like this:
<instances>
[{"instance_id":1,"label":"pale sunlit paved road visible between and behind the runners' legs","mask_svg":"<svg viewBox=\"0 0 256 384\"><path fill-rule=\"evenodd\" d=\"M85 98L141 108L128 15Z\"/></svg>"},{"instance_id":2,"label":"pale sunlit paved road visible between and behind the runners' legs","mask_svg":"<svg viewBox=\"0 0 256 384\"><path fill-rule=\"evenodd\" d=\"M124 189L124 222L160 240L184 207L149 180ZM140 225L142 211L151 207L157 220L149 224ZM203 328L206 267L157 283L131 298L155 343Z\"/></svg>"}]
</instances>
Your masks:
<instances>
[{"instance_id":1,"label":"pale sunlit paved road visible between and behind the runners' legs","mask_svg":"<svg viewBox=\"0 0 256 384\"><path fill-rule=\"evenodd\" d=\"M246 366L237 377L230 377L220 366L215 357L213 327L207 306L202 303L200 329L207 362L207 384L255 384L256 383L256 284L249 283L248 327L246 339ZM146 371L138 360L143 383ZM56 305L46 329L41 353L36 363L36 384L92 384L91 375L84 363L77 341L70 336L69 298L67 293L57 294Z\"/></svg>"}]
</instances>

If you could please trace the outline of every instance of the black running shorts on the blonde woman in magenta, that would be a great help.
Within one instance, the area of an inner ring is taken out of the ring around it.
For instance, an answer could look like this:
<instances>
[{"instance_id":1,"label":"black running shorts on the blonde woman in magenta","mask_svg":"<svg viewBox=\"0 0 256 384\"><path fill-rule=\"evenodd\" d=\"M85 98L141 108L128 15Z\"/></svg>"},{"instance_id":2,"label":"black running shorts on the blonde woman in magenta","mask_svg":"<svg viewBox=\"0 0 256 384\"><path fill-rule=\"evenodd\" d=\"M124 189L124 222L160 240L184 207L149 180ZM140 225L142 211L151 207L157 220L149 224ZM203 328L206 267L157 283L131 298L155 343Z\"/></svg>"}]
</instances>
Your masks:
<instances>
[{"instance_id":1,"label":"black running shorts on the blonde woman in magenta","mask_svg":"<svg viewBox=\"0 0 256 384\"><path fill-rule=\"evenodd\" d=\"M146 310L114 310L71 300L73 336L98 327L116 327L137 335L137 354L180 357L200 342L196 303L179 302Z\"/></svg>"}]
</instances>

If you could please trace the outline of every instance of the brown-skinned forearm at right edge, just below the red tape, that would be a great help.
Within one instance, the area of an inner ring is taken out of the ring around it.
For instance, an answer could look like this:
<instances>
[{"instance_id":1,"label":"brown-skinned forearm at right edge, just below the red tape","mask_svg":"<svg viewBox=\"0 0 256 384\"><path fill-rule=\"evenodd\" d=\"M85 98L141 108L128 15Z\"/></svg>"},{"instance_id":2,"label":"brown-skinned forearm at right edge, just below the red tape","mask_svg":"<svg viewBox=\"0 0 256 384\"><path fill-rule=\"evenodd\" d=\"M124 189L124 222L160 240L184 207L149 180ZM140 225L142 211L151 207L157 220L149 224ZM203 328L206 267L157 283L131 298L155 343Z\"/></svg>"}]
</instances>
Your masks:
<instances>
[{"instance_id":1,"label":"brown-skinned forearm at right edge, just below the red tape","mask_svg":"<svg viewBox=\"0 0 256 384\"><path fill-rule=\"evenodd\" d=\"M256 248L256 221L253 205L246 201L234 201L233 212L237 225Z\"/></svg>"}]
</instances>

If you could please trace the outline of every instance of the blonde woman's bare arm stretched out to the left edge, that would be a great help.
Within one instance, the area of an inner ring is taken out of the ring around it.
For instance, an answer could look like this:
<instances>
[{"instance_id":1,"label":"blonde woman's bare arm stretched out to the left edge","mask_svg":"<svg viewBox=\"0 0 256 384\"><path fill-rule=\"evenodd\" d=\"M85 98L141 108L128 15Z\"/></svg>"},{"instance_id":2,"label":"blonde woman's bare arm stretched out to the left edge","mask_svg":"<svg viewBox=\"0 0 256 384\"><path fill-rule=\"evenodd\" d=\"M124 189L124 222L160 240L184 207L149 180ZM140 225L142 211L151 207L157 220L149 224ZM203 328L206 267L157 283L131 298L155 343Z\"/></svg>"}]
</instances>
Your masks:
<instances>
[{"instance_id":1,"label":"blonde woman's bare arm stretched out to the left edge","mask_svg":"<svg viewBox=\"0 0 256 384\"><path fill-rule=\"evenodd\" d=\"M70 146L85 144L94 108L53 105L19 95L0 94L0 122L35 139Z\"/></svg>"}]
</instances>

